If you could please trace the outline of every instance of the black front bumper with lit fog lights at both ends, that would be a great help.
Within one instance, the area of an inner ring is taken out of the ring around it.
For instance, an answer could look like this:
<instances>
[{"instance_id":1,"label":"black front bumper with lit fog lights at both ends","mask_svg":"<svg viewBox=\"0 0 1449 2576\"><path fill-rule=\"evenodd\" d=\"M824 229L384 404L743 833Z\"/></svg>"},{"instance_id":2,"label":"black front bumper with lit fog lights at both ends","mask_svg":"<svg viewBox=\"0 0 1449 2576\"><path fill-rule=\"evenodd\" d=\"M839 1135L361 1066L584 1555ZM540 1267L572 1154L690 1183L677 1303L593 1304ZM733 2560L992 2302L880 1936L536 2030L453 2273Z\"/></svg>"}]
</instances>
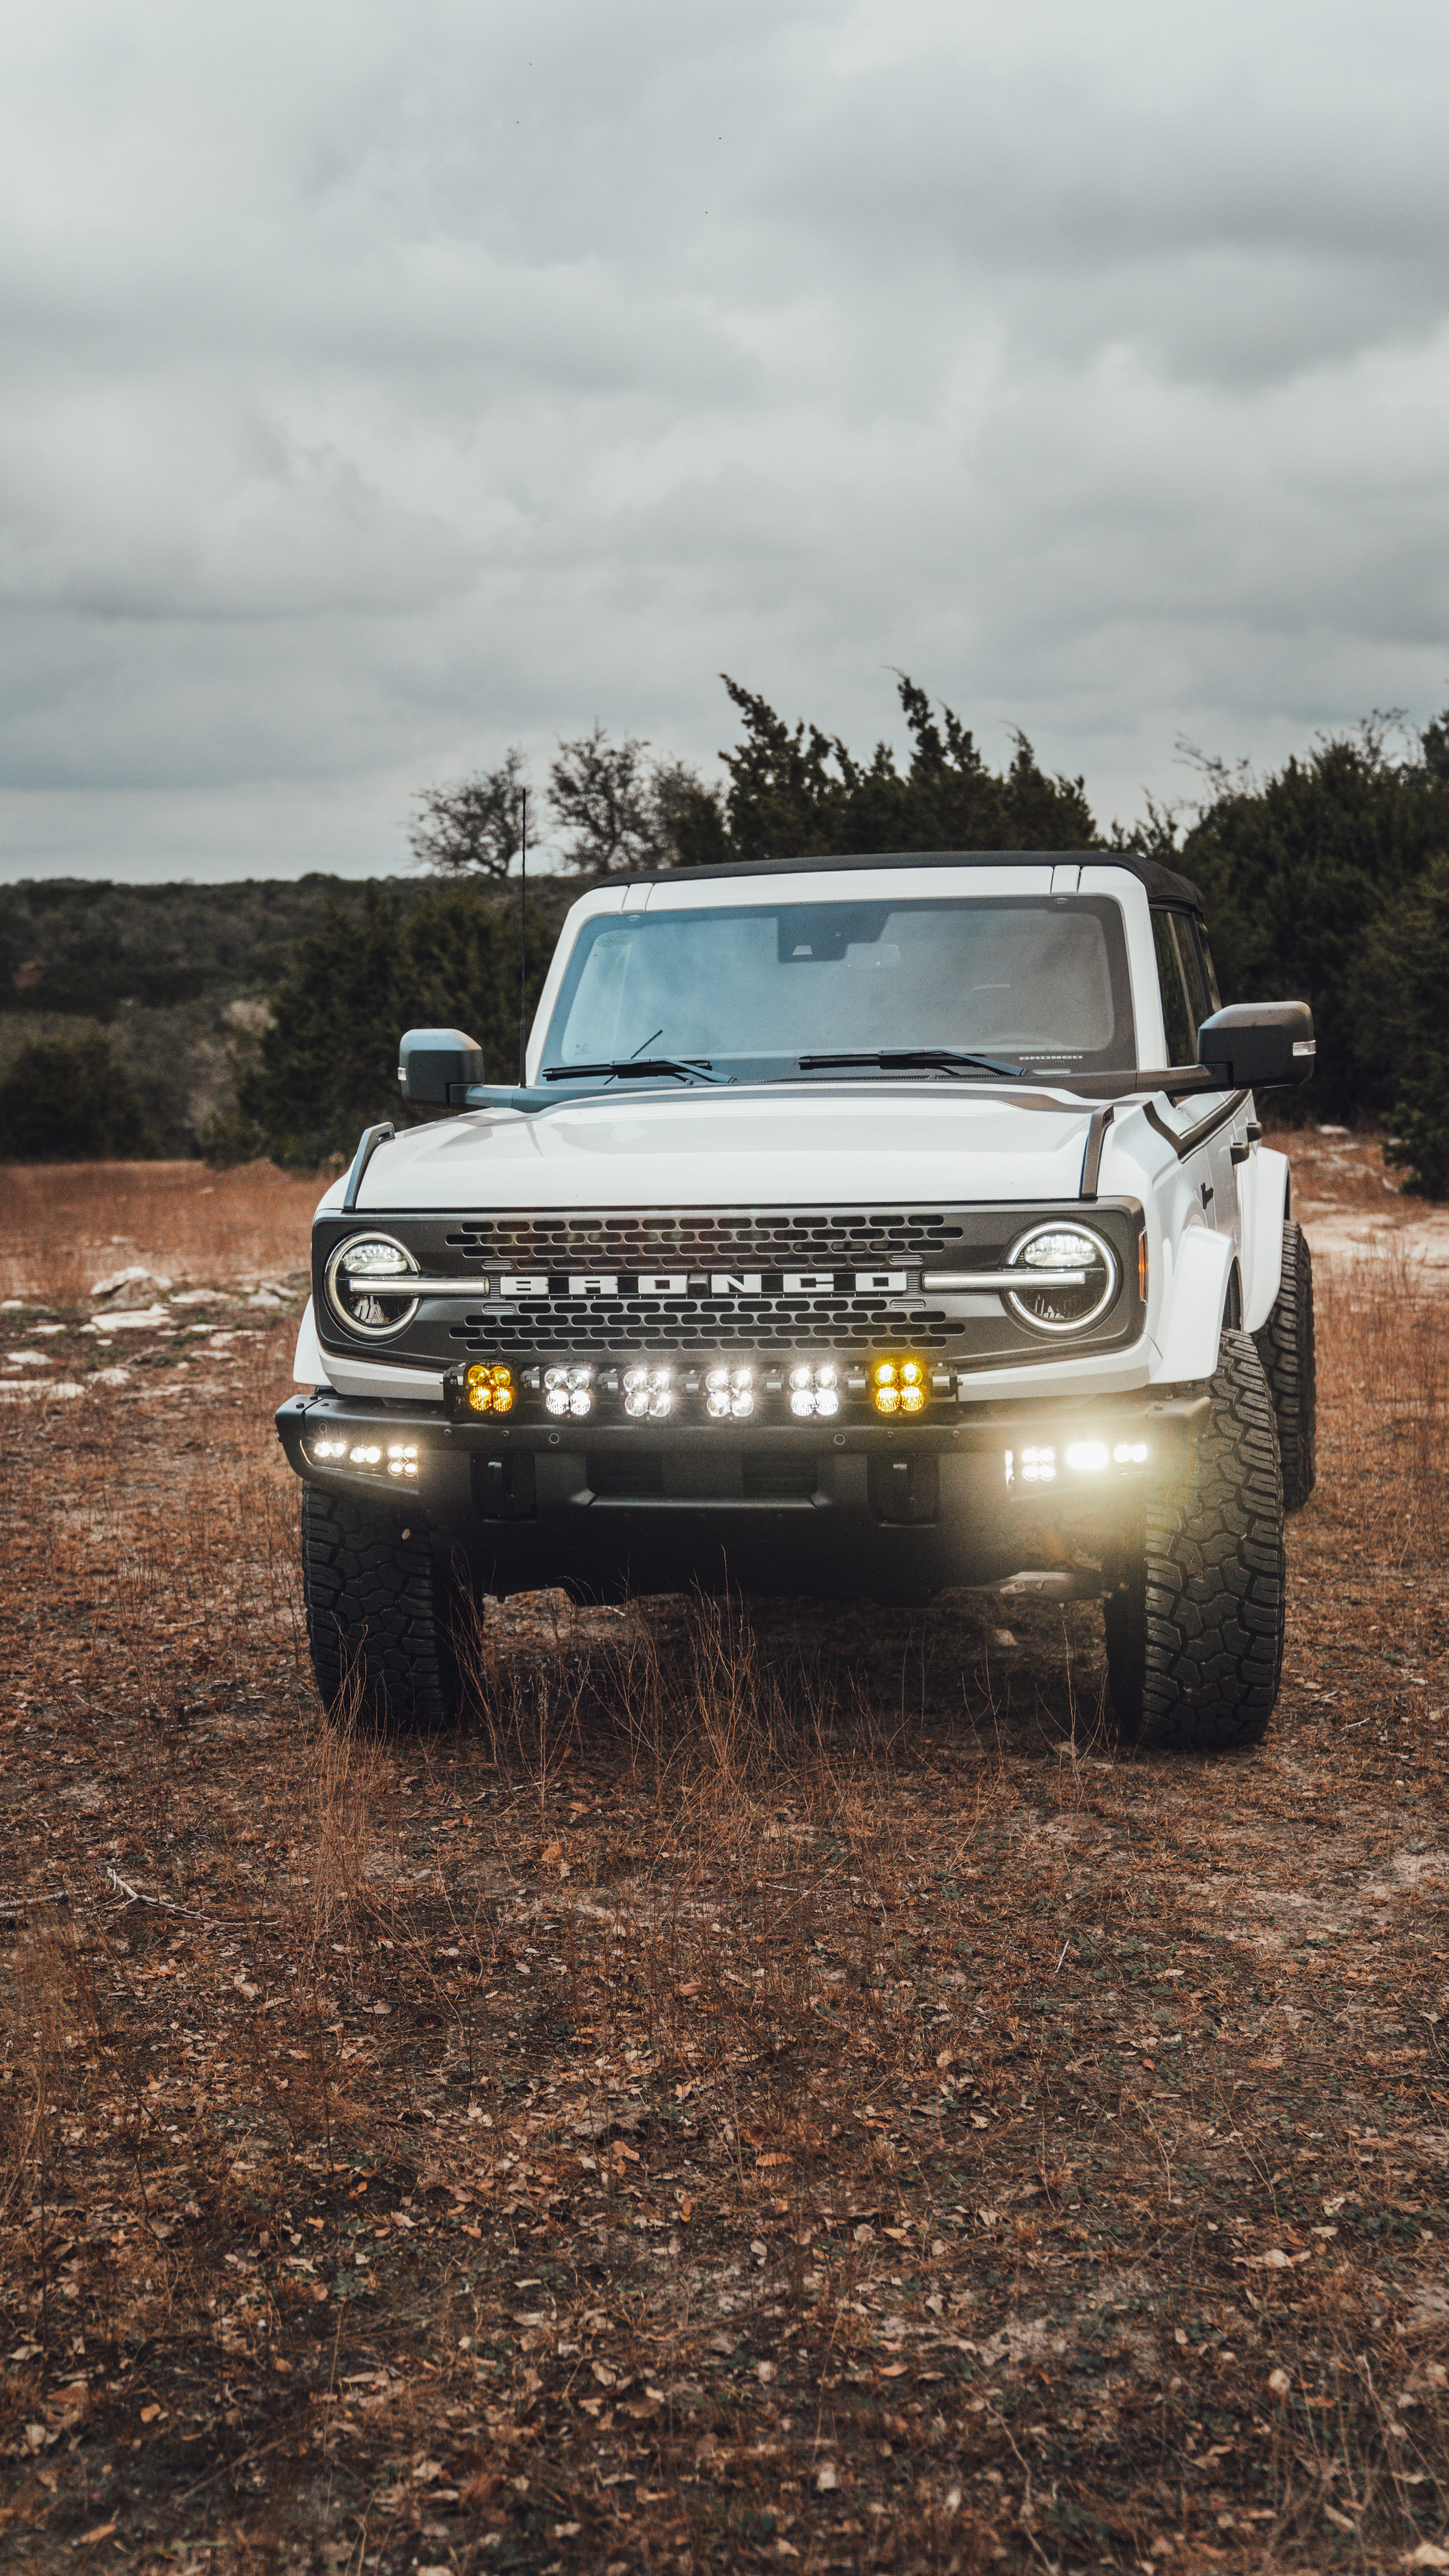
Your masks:
<instances>
[{"instance_id":1,"label":"black front bumper with lit fog lights at both ends","mask_svg":"<svg viewBox=\"0 0 1449 2576\"><path fill-rule=\"evenodd\" d=\"M1152 1489L1191 1468L1207 1396L980 1404L972 1419L779 1427L449 1419L294 1396L307 1481L418 1515L487 1592L580 1597L699 1582L920 1602L964 1587L1111 1592Z\"/></svg>"}]
</instances>

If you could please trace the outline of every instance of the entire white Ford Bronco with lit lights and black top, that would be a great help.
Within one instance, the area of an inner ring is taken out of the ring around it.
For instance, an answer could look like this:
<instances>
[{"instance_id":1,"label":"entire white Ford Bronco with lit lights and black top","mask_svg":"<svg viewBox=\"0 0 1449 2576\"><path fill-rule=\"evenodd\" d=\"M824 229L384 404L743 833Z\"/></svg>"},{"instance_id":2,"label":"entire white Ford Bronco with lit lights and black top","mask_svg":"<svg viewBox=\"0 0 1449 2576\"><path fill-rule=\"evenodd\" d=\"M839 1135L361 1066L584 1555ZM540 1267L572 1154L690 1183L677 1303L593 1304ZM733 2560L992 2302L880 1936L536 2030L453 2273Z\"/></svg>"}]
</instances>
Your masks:
<instances>
[{"instance_id":1,"label":"entire white Ford Bronco with lit lights and black top","mask_svg":"<svg viewBox=\"0 0 1449 2576\"><path fill-rule=\"evenodd\" d=\"M1256 1741L1315 1376L1253 1092L1310 1072L1145 858L585 894L523 1082L410 1030L441 1115L317 1208L278 1430L325 1703L438 1721L459 1587L1036 1589L1104 1600L1124 1739Z\"/></svg>"}]
</instances>

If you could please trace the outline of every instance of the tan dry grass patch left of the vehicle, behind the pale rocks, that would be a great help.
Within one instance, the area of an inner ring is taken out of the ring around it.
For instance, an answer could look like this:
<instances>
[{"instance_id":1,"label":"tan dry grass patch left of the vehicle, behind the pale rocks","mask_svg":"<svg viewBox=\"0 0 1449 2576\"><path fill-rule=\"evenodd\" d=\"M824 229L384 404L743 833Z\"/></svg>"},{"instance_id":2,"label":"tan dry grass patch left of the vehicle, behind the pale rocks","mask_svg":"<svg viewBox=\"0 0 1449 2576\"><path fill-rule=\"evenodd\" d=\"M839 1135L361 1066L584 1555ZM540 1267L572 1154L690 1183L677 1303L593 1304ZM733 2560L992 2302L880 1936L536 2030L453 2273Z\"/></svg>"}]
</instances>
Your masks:
<instances>
[{"instance_id":1,"label":"tan dry grass patch left of the vehicle, behind the pale rocks","mask_svg":"<svg viewBox=\"0 0 1449 2576\"><path fill-rule=\"evenodd\" d=\"M271 1162L0 1164L0 1296L80 1306L98 1278L142 1262L183 1283L286 1278L307 1265L315 1175Z\"/></svg>"}]
</instances>

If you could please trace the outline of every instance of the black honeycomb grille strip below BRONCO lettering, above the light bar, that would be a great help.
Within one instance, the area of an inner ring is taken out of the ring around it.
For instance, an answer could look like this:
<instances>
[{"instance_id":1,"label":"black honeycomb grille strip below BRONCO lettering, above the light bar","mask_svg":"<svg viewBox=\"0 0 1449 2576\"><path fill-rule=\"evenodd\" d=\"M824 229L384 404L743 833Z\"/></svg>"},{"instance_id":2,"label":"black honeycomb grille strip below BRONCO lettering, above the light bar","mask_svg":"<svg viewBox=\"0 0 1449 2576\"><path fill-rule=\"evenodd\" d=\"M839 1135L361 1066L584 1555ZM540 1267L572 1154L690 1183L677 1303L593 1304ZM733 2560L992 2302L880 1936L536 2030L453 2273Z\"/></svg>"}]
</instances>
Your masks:
<instances>
[{"instance_id":1,"label":"black honeycomb grille strip below BRONCO lettering, above the light bar","mask_svg":"<svg viewBox=\"0 0 1449 2576\"><path fill-rule=\"evenodd\" d=\"M482 1309L449 1324L459 1355L552 1358L554 1352L668 1350L670 1360L706 1360L717 1350L871 1350L879 1342L910 1337L915 1350L944 1350L959 1324L946 1324L936 1309L905 1309L900 1298L856 1296L755 1296L740 1306L719 1298L552 1298Z\"/></svg>"}]
</instances>

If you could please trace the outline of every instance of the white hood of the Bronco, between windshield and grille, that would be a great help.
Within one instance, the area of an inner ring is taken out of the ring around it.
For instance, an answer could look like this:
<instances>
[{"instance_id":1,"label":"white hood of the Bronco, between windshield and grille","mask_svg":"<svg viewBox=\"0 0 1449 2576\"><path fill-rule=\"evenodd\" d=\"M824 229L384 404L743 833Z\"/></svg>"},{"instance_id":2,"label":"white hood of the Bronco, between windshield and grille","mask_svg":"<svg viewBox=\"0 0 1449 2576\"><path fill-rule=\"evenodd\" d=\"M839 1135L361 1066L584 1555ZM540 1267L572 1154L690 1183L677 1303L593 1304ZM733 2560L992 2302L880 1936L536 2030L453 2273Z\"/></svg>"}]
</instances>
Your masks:
<instances>
[{"instance_id":1,"label":"white hood of the Bronco, between windshield and grille","mask_svg":"<svg viewBox=\"0 0 1449 2576\"><path fill-rule=\"evenodd\" d=\"M358 1213L962 1206L1075 1198L1091 1110L1044 1092L678 1092L474 1110L376 1149ZM338 1206L343 1182L322 1206Z\"/></svg>"}]
</instances>

